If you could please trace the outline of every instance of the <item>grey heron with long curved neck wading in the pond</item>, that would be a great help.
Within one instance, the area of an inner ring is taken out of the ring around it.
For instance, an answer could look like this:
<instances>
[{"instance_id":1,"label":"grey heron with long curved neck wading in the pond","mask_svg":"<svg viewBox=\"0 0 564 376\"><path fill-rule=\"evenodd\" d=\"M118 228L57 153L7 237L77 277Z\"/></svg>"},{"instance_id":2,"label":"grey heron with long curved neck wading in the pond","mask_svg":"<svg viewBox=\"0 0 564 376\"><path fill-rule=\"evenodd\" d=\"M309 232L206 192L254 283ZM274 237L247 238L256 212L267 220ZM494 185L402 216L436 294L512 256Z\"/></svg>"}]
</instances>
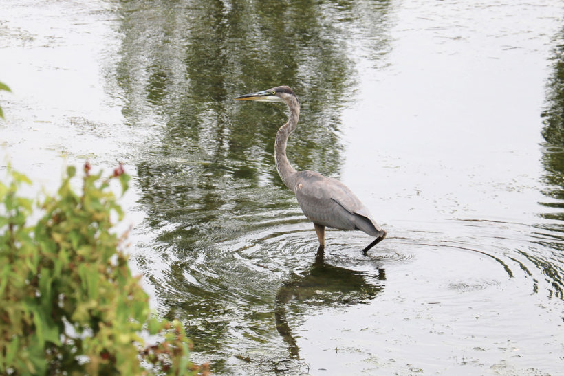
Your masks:
<instances>
[{"instance_id":1,"label":"grey heron with long curved neck wading in the pond","mask_svg":"<svg viewBox=\"0 0 564 376\"><path fill-rule=\"evenodd\" d=\"M313 171L296 171L290 165L286 157L286 143L290 133L296 129L300 117L300 102L290 87L273 87L234 99L288 104L290 118L280 127L274 142L276 170L284 184L296 195L305 217L314 223L321 252L325 247L325 227L361 230L376 236L376 239L362 250L365 254L386 237L386 232L374 221L366 206L345 184Z\"/></svg>"}]
</instances>

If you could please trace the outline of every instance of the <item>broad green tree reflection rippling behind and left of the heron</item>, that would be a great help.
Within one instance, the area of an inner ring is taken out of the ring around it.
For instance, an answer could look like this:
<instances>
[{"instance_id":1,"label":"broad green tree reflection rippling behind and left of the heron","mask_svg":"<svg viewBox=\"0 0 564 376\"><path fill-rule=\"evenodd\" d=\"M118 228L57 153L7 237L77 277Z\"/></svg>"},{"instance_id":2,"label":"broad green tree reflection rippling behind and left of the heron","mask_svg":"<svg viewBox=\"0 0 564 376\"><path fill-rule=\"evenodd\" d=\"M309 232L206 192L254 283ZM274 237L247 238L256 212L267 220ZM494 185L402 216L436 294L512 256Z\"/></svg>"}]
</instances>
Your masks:
<instances>
[{"instance_id":1,"label":"broad green tree reflection rippling behind and left of the heron","mask_svg":"<svg viewBox=\"0 0 564 376\"><path fill-rule=\"evenodd\" d=\"M234 349L244 349L241 338L256 348L272 333L273 291L300 264L294 257L315 244L314 237L300 243L291 236L291 226L304 220L274 166L274 137L286 109L237 106L232 97L290 85L303 115L288 156L299 169L336 177L343 149L340 112L355 80L347 43L351 36L366 36L365 50L378 61L389 49L387 6L120 3L117 80L127 122L133 131L149 130L136 166L147 231L157 239L147 245L156 254L137 261L158 286L160 310L186 320L197 351L223 358L216 372ZM246 254L247 245L218 246L262 231L262 243L268 234L284 236L272 247L258 242L252 254ZM354 281L345 278L343 284Z\"/></svg>"}]
</instances>

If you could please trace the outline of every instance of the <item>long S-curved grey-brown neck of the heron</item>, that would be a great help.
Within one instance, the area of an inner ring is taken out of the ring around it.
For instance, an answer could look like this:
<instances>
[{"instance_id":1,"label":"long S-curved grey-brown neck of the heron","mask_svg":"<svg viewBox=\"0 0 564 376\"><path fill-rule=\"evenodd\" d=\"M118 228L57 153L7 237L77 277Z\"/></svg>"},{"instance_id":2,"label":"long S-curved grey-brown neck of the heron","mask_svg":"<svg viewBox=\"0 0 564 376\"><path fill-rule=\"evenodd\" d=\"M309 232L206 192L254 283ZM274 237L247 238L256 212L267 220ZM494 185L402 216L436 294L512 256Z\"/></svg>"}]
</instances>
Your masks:
<instances>
[{"instance_id":1,"label":"long S-curved grey-brown neck of the heron","mask_svg":"<svg viewBox=\"0 0 564 376\"><path fill-rule=\"evenodd\" d=\"M286 144L290 133L296 129L296 125L298 124L300 118L300 104L296 98L291 98L288 107L290 107L290 118L286 124L280 127L278 133L276 133L274 159L276 159L276 170L278 170L285 186L294 192L296 170L290 165L290 161L288 161L288 157L286 157Z\"/></svg>"}]
</instances>

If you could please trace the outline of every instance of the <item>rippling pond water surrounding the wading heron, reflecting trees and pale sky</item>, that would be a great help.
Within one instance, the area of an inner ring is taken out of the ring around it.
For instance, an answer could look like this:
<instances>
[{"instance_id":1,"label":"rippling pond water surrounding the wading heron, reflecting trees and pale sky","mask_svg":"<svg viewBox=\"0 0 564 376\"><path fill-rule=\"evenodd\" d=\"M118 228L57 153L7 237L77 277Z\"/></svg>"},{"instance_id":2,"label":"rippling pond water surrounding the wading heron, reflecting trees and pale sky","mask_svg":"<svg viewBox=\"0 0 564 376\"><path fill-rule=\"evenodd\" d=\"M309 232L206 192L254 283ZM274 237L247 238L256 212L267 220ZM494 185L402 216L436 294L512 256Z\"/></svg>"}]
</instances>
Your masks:
<instances>
[{"instance_id":1,"label":"rippling pond water surrounding the wading heron, reflecting trees and pale sky","mask_svg":"<svg viewBox=\"0 0 564 376\"><path fill-rule=\"evenodd\" d=\"M3 1L0 142L134 176L131 265L217 374L564 369L561 1ZM338 177L387 239L323 257L274 167ZM2 162L6 164L6 162Z\"/></svg>"}]
</instances>

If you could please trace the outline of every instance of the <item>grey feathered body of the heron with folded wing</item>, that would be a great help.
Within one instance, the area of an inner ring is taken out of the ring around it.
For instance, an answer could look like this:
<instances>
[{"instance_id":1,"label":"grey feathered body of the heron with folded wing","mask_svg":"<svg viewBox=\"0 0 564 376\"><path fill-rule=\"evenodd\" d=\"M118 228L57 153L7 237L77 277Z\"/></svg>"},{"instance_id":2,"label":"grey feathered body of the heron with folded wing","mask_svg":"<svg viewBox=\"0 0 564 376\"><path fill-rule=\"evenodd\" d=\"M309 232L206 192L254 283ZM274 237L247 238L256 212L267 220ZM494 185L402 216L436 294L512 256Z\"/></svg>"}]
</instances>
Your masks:
<instances>
[{"instance_id":1,"label":"grey feathered body of the heron with folded wing","mask_svg":"<svg viewBox=\"0 0 564 376\"><path fill-rule=\"evenodd\" d=\"M382 229L345 184L312 171L298 173L294 190L307 219L340 230L380 236Z\"/></svg>"}]
</instances>

